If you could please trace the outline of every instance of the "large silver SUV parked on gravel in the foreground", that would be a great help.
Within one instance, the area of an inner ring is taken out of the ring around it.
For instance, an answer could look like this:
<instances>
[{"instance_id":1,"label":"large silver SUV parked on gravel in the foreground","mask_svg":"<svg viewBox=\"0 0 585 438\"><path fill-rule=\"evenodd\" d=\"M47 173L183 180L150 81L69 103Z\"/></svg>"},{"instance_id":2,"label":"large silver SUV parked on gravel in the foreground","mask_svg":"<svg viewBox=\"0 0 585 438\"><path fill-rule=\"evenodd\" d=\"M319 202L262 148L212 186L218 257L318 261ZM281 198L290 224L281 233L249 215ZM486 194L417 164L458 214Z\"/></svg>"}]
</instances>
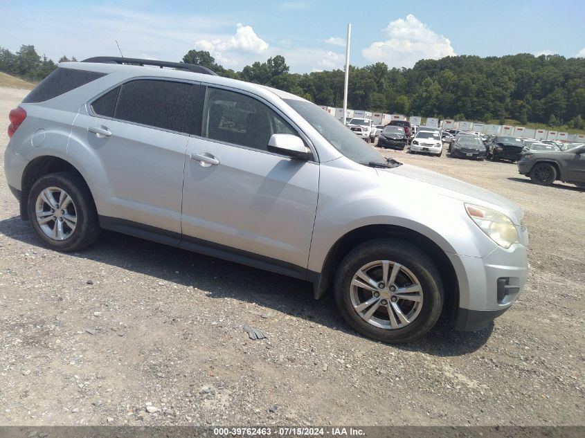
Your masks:
<instances>
[{"instance_id":1,"label":"large silver SUV parked on gravel in the foreground","mask_svg":"<svg viewBox=\"0 0 585 438\"><path fill-rule=\"evenodd\" d=\"M481 329L526 282L516 204L386 159L296 95L200 66L62 63L8 131L21 217L55 250L107 229L291 275L387 343L441 313Z\"/></svg>"}]
</instances>

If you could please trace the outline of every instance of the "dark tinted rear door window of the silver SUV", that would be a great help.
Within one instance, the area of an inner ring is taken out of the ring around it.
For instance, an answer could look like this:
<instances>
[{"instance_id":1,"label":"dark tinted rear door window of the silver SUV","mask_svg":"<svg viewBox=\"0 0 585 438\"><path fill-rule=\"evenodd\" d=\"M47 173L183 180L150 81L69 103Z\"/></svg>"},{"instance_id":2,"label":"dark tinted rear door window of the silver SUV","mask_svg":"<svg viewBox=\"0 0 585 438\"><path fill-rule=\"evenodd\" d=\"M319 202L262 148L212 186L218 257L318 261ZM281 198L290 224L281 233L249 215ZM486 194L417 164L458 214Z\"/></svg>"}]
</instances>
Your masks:
<instances>
[{"instance_id":1,"label":"dark tinted rear door window of the silver SUV","mask_svg":"<svg viewBox=\"0 0 585 438\"><path fill-rule=\"evenodd\" d=\"M127 82L118 93L114 118L183 132L191 91L192 85L186 82L150 79Z\"/></svg>"}]
</instances>

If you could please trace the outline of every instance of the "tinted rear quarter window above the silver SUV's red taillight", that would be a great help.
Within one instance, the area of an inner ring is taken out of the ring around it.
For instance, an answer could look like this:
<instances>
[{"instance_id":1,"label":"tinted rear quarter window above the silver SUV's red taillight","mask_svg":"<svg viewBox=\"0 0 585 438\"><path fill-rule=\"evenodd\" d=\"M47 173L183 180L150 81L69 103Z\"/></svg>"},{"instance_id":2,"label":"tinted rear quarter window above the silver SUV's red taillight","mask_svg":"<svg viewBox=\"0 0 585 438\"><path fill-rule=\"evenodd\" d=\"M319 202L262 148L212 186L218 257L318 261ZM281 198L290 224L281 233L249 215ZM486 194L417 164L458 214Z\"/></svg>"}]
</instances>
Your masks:
<instances>
[{"instance_id":1,"label":"tinted rear quarter window above the silver SUV's red taillight","mask_svg":"<svg viewBox=\"0 0 585 438\"><path fill-rule=\"evenodd\" d=\"M56 98L82 85L89 84L106 73L95 71L84 71L76 69L65 69L58 67L51 74L44 78L33 91L30 91L22 103L38 103Z\"/></svg>"}]
</instances>

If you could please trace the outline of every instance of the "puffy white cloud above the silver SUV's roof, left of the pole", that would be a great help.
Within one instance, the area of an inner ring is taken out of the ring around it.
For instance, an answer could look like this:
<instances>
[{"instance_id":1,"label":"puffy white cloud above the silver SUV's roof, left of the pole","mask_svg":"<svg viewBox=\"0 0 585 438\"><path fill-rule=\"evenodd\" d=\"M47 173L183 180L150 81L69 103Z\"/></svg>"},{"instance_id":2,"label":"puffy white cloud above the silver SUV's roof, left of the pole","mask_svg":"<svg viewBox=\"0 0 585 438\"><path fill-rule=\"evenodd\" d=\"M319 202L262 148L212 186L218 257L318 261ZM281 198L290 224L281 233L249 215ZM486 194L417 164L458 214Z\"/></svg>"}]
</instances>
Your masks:
<instances>
[{"instance_id":1,"label":"puffy white cloud above the silver SUV's roof, left of the pole","mask_svg":"<svg viewBox=\"0 0 585 438\"><path fill-rule=\"evenodd\" d=\"M238 23L235 35L216 39L200 39L195 48L208 51L219 64L237 66L246 53L262 54L269 49L269 44L258 37L252 26Z\"/></svg>"}]
</instances>

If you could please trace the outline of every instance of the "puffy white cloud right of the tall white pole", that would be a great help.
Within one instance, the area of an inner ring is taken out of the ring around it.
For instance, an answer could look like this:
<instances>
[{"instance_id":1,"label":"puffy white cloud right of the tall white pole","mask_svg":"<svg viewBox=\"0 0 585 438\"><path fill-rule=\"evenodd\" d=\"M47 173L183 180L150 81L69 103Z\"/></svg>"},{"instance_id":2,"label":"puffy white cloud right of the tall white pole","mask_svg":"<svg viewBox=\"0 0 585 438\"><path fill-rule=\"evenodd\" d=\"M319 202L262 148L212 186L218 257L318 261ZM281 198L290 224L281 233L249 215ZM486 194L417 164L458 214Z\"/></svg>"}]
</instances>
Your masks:
<instances>
[{"instance_id":1,"label":"puffy white cloud right of the tall white pole","mask_svg":"<svg viewBox=\"0 0 585 438\"><path fill-rule=\"evenodd\" d=\"M455 55L451 41L438 35L409 14L406 19L390 21L384 29L388 39L373 42L361 51L370 62L386 62L391 67L412 67L419 60Z\"/></svg>"}]
</instances>

